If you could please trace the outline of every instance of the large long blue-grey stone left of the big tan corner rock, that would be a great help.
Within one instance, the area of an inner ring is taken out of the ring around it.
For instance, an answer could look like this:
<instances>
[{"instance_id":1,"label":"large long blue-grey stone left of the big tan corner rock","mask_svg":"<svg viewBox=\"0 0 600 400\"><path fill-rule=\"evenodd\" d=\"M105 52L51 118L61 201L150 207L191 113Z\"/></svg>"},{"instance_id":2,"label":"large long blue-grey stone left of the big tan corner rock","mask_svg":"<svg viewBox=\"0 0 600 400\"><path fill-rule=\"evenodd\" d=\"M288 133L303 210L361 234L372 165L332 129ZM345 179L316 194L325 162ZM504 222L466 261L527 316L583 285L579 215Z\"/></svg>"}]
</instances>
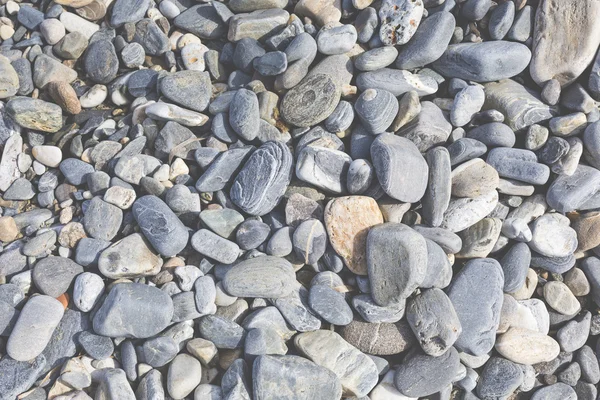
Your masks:
<instances>
[{"instance_id":1,"label":"large long blue-grey stone left of the big tan corner rock","mask_svg":"<svg viewBox=\"0 0 600 400\"><path fill-rule=\"evenodd\" d=\"M451 44L432 66L445 78L498 81L520 74L531 60L527 46L502 40Z\"/></svg>"}]
</instances>

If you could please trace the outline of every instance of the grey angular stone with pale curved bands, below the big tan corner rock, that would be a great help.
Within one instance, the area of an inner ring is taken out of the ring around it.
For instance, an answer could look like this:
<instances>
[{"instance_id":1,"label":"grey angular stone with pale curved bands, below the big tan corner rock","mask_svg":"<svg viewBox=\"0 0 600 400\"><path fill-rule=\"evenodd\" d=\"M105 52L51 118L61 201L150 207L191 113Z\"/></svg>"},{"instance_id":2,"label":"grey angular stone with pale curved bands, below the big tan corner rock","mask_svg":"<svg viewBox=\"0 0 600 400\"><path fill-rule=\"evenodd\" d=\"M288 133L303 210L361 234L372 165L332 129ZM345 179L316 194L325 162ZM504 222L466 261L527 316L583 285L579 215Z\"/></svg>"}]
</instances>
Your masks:
<instances>
[{"instance_id":1,"label":"grey angular stone with pale curved bands, below the big tan corner rock","mask_svg":"<svg viewBox=\"0 0 600 400\"><path fill-rule=\"evenodd\" d=\"M544 104L538 93L512 79L486 84L483 107L504 114L505 123L515 132L549 120L558 113L556 107Z\"/></svg>"}]
</instances>

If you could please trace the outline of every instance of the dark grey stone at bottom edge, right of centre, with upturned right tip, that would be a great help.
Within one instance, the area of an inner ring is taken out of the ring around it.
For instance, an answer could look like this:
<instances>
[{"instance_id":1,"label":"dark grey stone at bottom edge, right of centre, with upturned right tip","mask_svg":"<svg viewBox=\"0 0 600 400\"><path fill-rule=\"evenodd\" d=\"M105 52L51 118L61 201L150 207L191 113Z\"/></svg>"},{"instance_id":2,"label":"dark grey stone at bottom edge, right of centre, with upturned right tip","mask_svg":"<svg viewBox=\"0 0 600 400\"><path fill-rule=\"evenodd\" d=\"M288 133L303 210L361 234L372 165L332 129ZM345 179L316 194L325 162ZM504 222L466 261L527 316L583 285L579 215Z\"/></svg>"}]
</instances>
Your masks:
<instances>
[{"instance_id":1,"label":"dark grey stone at bottom edge, right of centre, with upturned right tip","mask_svg":"<svg viewBox=\"0 0 600 400\"><path fill-rule=\"evenodd\" d=\"M413 352L396 370L396 388L407 397L429 396L452 382L459 368L460 358L454 348L439 357ZM423 379L423 377L428 379Z\"/></svg>"}]
</instances>

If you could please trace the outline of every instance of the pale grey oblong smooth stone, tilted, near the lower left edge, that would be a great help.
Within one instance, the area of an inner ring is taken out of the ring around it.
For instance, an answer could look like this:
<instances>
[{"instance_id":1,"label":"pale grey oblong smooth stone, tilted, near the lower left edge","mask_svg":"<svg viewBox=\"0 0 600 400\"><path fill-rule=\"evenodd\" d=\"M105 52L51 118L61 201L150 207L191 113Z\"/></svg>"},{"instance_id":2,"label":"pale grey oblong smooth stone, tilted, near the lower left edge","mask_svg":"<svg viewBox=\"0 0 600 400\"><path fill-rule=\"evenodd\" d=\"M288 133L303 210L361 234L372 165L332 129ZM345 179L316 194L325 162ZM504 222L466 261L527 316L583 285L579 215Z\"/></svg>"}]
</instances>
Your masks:
<instances>
[{"instance_id":1,"label":"pale grey oblong smooth stone, tilted, near the lower left edge","mask_svg":"<svg viewBox=\"0 0 600 400\"><path fill-rule=\"evenodd\" d=\"M17 361L29 361L40 355L63 314L63 305L58 300L44 295L31 297L8 337L6 353Z\"/></svg>"}]
</instances>

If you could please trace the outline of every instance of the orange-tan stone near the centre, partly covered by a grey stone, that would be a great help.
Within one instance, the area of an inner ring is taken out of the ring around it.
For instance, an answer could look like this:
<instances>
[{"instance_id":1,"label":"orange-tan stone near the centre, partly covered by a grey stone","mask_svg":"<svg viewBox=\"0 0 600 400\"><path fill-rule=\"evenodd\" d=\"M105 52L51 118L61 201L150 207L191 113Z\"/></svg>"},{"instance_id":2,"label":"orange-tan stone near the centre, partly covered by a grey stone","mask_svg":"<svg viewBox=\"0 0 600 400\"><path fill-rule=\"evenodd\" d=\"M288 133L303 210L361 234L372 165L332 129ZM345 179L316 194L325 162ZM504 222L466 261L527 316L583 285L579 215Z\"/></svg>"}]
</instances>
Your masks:
<instances>
[{"instance_id":1,"label":"orange-tan stone near the centre, partly covered by a grey stone","mask_svg":"<svg viewBox=\"0 0 600 400\"><path fill-rule=\"evenodd\" d=\"M367 275L369 228L382 223L383 215L371 197L339 197L325 208L325 227L331 246L350 271L358 275Z\"/></svg>"}]
</instances>

